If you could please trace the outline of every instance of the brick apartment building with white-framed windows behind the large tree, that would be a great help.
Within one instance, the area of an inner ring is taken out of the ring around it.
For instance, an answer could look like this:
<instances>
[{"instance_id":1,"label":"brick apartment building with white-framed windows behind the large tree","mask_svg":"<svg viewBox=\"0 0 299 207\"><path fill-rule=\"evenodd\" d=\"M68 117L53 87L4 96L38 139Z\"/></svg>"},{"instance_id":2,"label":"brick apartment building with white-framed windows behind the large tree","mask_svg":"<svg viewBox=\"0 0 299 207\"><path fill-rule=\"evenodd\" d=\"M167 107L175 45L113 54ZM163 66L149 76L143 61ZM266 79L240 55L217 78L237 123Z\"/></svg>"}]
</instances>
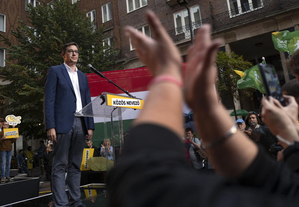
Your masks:
<instances>
[{"instance_id":1,"label":"brick apartment building with white-framed windows behind the large tree","mask_svg":"<svg viewBox=\"0 0 299 207\"><path fill-rule=\"evenodd\" d=\"M137 58L124 28L131 25L143 34L155 38L144 14L153 10L160 18L168 34L180 49L185 60L187 48L192 44L187 9L176 0L69 0L78 4L86 16L95 20L96 27L104 24L104 43L120 50L118 64L127 61L125 69L144 66ZM51 4L53 1L46 0ZM17 26L17 16L26 20L26 4L42 4L37 0L0 1L0 32L12 39L10 31ZM271 33L299 29L299 2L297 0L189 0L192 29L196 34L202 24L210 24L212 38L223 38L221 50L234 51L245 60L255 62L257 57L266 58L275 66L281 84L293 77L286 67L287 53L274 49ZM0 42L0 46L3 43ZM0 51L0 66L4 66L5 51ZM237 109L254 109L259 105L259 95L253 94L254 101L245 101Z\"/></svg>"}]
</instances>

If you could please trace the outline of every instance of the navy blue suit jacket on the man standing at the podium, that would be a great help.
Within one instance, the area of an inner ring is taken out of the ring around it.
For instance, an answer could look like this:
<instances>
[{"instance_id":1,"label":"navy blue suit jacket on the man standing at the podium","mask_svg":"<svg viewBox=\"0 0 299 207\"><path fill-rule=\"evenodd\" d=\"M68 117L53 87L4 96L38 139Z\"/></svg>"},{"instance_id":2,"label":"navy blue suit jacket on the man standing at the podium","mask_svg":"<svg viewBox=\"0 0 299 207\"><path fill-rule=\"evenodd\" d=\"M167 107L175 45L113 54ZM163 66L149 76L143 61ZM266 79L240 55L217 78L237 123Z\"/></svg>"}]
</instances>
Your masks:
<instances>
[{"instance_id":1,"label":"navy blue suit jacket on the man standing at the podium","mask_svg":"<svg viewBox=\"0 0 299 207\"><path fill-rule=\"evenodd\" d=\"M87 76L77 70L82 108L91 102ZM56 133L68 133L74 124L76 95L65 65L48 68L45 79L45 130L55 128ZM86 129L94 130L93 117L84 117Z\"/></svg>"}]
</instances>

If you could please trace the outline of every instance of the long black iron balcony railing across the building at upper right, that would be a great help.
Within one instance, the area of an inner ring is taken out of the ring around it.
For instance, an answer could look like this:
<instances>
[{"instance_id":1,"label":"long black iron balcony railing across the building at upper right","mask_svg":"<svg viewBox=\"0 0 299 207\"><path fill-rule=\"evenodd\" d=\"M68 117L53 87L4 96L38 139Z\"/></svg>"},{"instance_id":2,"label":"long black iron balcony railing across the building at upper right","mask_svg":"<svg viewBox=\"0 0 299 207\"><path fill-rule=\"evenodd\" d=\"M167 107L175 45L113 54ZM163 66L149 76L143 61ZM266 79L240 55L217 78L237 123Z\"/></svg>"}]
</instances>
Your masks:
<instances>
[{"instance_id":1,"label":"long black iron balcony railing across the building at upper right","mask_svg":"<svg viewBox=\"0 0 299 207\"><path fill-rule=\"evenodd\" d=\"M192 22L193 34L196 34L197 28L202 24L210 24L212 26L212 30L223 29L225 27L239 24L246 20L269 15L273 12L296 6L299 7L298 0L263 0L261 4L251 3L246 7L242 6L238 9L225 11L200 21ZM189 25L169 30L168 34L174 42L189 39Z\"/></svg>"}]
</instances>

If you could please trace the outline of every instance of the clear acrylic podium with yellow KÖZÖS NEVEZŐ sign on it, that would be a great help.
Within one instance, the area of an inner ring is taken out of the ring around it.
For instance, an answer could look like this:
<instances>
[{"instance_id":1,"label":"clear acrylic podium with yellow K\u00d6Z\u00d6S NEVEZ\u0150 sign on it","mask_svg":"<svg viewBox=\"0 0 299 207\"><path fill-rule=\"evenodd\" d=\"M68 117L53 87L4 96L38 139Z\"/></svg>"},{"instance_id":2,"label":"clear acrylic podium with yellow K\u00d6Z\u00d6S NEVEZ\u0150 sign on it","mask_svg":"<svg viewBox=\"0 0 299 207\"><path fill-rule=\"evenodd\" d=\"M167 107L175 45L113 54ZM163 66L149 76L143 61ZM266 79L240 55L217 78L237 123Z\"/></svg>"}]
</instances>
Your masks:
<instances>
[{"instance_id":1,"label":"clear acrylic podium with yellow K\u00d6Z\u00d6S NEVEZ\u0150 sign on it","mask_svg":"<svg viewBox=\"0 0 299 207\"><path fill-rule=\"evenodd\" d=\"M104 125L103 128L101 128L100 130L104 131L105 140L109 139L111 141L111 146L113 148L113 161L114 161L113 165L115 166L117 162L116 160L117 157L115 156L116 146L119 146L119 153L121 153L121 150L124 146L124 137L123 137L124 132L123 132L121 114L128 108L142 109L142 107L143 107L143 100L140 98L121 96L113 93L102 92L101 95L96 97L82 110L75 113L75 115L101 117ZM111 166L111 161L109 161L110 165L108 164L107 147L105 147L105 155L106 155L106 167L108 172L109 166L110 168L112 166Z\"/></svg>"}]
</instances>

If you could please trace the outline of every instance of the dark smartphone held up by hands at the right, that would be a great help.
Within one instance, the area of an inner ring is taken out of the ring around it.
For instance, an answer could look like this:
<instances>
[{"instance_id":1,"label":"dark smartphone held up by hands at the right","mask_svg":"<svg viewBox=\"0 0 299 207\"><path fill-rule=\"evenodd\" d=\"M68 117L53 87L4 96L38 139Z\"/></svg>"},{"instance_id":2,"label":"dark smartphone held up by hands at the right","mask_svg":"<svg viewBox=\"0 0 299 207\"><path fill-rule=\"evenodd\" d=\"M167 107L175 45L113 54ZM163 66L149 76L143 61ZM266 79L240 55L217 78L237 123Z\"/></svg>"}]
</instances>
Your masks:
<instances>
[{"instance_id":1,"label":"dark smartphone held up by hands at the right","mask_svg":"<svg viewBox=\"0 0 299 207\"><path fill-rule=\"evenodd\" d=\"M282 91L279 84L278 75L273 65L259 64L259 71L261 72L264 87L266 89L267 96L276 98L282 106L286 106L284 98L282 97Z\"/></svg>"}]
</instances>

